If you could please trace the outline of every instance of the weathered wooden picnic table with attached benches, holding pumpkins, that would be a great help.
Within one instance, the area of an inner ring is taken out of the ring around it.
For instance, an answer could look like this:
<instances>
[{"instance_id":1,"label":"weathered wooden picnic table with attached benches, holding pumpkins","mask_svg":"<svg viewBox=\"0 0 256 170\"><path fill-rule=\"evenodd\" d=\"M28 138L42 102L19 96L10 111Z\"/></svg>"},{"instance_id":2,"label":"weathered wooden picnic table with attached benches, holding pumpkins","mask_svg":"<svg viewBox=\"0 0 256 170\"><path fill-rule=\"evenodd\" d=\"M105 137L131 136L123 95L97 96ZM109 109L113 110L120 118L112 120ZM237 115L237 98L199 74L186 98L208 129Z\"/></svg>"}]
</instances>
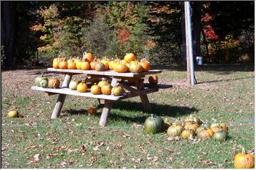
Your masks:
<instances>
[{"instance_id":1,"label":"weathered wooden picnic table with attached benches, holding pumpkins","mask_svg":"<svg viewBox=\"0 0 256 170\"><path fill-rule=\"evenodd\" d=\"M75 95L75 96L84 96L84 97L91 97L97 98L100 104L104 104L102 109L102 115L100 117L100 125L105 126L107 123L107 118L110 115L110 110L112 108L112 104L115 101L122 100L124 98L132 98L135 96L140 96L142 100L142 105L145 111L151 111L151 106L149 104L149 98L147 94L154 93L159 90L157 85L150 85L144 83L144 77L148 74L158 74L161 73L161 70L149 70L149 72L142 72L139 74L134 74L131 72L127 73L117 73L112 70L108 70L105 72L97 72L95 70L81 70L81 69L54 69L48 68L48 72L60 72L65 74L65 78L63 81L62 86L59 89L49 89L49 88L42 88L38 86L32 86L31 89L37 91L45 91L46 96L51 96L58 94L58 100L55 104L55 108L53 109L53 113L51 115L52 119L58 118L60 115L61 109L63 107L63 103L65 101L65 96L68 95ZM121 85L122 88L126 91L126 94L122 96L114 96L114 95L94 95L90 93L90 89L88 88L87 92L79 93L78 91L74 91L68 88L72 76L75 74L86 74L85 82L87 84L92 84L103 77L111 82L112 86L116 86L117 84ZM134 83L129 83L126 81L129 78L135 79Z\"/></svg>"}]
</instances>

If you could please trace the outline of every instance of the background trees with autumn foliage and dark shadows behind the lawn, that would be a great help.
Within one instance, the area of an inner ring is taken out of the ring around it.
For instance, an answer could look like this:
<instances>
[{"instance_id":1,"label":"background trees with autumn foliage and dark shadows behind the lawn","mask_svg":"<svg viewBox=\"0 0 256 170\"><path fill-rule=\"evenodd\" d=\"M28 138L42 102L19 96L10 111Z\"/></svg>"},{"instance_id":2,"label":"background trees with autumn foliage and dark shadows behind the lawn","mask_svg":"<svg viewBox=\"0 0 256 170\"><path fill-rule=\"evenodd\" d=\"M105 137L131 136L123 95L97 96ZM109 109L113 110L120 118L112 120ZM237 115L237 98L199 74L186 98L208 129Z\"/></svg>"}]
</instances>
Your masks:
<instances>
[{"instance_id":1,"label":"background trees with autumn foliage and dark shadows behind the lawn","mask_svg":"<svg viewBox=\"0 0 256 170\"><path fill-rule=\"evenodd\" d=\"M1 66L48 64L85 50L97 57L134 52L154 64L181 63L182 6L176 1L1 1ZM195 57L254 62L253 1L191 6Z\"/></svg>"}]
</instances>

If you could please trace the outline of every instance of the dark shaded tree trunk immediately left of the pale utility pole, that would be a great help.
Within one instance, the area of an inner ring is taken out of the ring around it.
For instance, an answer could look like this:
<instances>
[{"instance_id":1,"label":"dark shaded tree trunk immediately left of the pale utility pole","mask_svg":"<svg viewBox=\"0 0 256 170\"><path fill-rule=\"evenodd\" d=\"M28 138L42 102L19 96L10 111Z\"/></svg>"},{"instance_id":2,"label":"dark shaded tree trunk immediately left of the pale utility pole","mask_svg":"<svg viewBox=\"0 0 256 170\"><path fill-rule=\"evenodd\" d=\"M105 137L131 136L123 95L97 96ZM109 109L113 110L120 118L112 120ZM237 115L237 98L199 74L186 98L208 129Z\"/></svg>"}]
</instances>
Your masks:
<instances>
[{"instance_id":1,"label":"dark shaded tree trunk immediately left of the pale utility pole","mask_svg":"<svg viewBox=\"0 0 256 170\"><path fill-rule=\"evenodd\" d=\"M182 34L182 64L186 66L186 29L185 29L185 9L184 2L181 2L181 34Z\"/></svg>"}]
</instances>

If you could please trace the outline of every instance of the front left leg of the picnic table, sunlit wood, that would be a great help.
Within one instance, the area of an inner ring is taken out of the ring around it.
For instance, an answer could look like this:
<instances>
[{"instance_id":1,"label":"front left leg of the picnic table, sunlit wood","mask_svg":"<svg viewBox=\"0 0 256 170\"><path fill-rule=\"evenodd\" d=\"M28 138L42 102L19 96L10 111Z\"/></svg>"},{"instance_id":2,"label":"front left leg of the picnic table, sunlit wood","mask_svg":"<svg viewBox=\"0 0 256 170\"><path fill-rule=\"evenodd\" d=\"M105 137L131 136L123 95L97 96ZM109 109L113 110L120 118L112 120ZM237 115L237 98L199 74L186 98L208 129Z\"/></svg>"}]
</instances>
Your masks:
<instances>
[{"instance_id":1,"label":"front left leg of the picnic table, sunlit wood","mask_svg":"<svg viewBox=\"0 0 256 170\"><path fill-rule=\"evenodd\" d=\"M65 74L62 87L68 87L71 78L72 78L72 74ZM58 101L55 104L55 108L53 109L53 113L51 115L51 119L58 118L58 116L60 115L61 109L63 107L63 103L65 101L65 96L66 96L65 94L59 94Z\"/></svg>"}]
</instances>

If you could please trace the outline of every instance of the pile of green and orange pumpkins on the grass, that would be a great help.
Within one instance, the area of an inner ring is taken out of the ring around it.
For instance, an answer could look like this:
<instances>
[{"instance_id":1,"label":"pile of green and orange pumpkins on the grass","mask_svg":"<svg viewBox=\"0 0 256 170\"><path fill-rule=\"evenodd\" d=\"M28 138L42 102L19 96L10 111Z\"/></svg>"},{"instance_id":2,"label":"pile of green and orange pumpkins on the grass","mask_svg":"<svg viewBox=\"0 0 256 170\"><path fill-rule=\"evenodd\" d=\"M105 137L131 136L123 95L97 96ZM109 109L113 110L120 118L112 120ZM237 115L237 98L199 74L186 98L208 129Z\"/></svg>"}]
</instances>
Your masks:
<instances>
[{"instance_id":1,"label":"pile of green and orange pumpkins on the grass","mask_svg":"<svg viewBox=\"0 0 256 170\"><path fill-rule=\"evenodd\" d=\"M228 127L225 123L203 122L197 115L189 115L184 120L178 118L171 123L167 118L163 120L160 116L151 115L144 123L147 134L156 132L167 132L169 137L179 137L188 139L196 135L201 140L214 138L217 141L225 141L228 137Z\"/></svg>"}]
</instances>

